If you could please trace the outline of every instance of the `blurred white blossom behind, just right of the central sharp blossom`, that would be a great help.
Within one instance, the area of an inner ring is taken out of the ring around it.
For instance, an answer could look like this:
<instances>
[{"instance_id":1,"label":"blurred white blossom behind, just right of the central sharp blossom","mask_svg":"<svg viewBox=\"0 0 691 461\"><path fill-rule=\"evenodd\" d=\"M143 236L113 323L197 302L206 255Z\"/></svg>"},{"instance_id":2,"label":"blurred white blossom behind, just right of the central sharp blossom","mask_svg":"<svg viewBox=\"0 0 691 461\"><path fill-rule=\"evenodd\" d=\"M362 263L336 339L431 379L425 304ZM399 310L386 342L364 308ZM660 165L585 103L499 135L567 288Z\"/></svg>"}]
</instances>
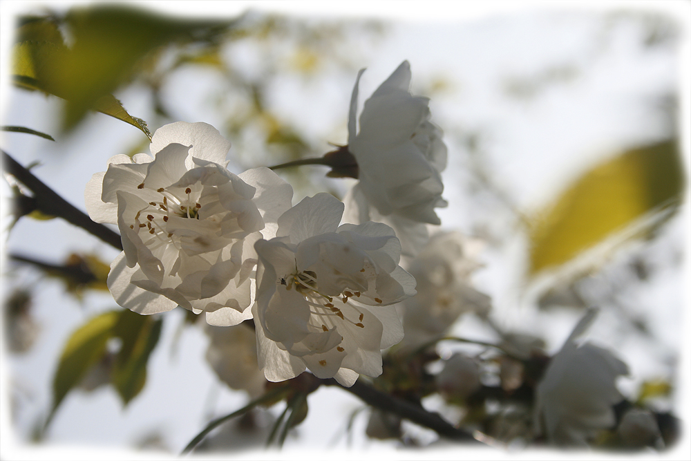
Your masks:
<instances>
[{"instance_id":1,"label":"blurred white blossom behind, just right of the central sharp blossom","mask_svg":"<svg viewBox=\"0 0 691 461\"><path fill-rule=\"evenodd\" d=\"M413 258L407 269L417 280L417 294L402 303L406 337L399 348L410 350L446 335L466 312L489 312L490 297L471 283L481 248L480 241L460 232L440 232Z\"/></svg>"}]
</instances>

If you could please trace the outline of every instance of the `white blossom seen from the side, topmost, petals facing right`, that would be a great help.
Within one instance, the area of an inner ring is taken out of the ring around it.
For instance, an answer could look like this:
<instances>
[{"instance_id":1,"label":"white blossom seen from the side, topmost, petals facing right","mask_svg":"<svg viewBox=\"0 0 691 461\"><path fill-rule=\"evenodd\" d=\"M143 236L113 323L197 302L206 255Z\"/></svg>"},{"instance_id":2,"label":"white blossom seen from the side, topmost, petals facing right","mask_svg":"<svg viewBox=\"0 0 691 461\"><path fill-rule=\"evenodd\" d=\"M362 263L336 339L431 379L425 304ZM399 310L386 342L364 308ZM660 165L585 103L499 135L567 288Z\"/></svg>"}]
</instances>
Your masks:
<instances>
[{"instance_id":1,"label":"white blossom seen from the side, topmost, petals facing right","mask_svg":"<svg viewBox=\"0 0 691 461\"><path fill-rule=\"evenodd\" d=\"M357 131L363 70L357 75L348 115L348 151L357 160L359 182L345 199L346 220L391 225L404 254L413 256L428 236L425 223L441 223L435 207L447 205L440 175L446 168L442 131L429 121L428 98L410 94L407 61L365 102Z\"/></svg>"}]
</instances>

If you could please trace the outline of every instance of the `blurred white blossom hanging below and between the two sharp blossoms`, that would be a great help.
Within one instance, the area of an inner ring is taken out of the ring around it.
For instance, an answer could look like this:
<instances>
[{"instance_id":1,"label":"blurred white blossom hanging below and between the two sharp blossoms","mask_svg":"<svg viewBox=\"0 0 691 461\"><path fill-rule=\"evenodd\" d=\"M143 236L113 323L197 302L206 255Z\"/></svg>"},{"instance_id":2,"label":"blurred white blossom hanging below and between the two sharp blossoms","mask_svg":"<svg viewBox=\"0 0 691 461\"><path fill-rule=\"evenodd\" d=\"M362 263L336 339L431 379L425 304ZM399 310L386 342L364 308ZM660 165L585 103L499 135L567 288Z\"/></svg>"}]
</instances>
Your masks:
<instances>
[{"instance_id":1,"label":"blurred white blossom hanging below and between the two sharp blossoms","mask_svg":"<svg viewBox=\"0 0 691 461\"><path fill-rule=\"evenodd\" d=\"M256 398L263 394L266 379L257 364L256 335L246 323L205 326L204 332L211 339L206 359L221 381Z\"/></svg>"}]
</instances>

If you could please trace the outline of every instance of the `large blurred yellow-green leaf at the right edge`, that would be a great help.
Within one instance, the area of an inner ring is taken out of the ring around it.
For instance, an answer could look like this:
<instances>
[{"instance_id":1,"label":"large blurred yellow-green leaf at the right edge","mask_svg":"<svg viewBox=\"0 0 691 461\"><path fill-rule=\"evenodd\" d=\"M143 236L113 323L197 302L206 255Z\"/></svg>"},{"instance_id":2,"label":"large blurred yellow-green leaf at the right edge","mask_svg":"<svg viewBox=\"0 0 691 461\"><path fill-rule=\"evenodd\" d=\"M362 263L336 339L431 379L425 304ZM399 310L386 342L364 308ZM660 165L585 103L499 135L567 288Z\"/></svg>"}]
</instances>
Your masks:
<instances>
[{"instance_id":1,"label":"large blurred yellow-green leaf at the right edge","mask_svg":"<svg viewBox=\"0 0 691 461\"><path fill-rule=\"evenodd\" d=\"M676 140L591 169L532 221L529 274L570 261L651 211L676 207L684 182Z\"/></svg>"}]
</instances>

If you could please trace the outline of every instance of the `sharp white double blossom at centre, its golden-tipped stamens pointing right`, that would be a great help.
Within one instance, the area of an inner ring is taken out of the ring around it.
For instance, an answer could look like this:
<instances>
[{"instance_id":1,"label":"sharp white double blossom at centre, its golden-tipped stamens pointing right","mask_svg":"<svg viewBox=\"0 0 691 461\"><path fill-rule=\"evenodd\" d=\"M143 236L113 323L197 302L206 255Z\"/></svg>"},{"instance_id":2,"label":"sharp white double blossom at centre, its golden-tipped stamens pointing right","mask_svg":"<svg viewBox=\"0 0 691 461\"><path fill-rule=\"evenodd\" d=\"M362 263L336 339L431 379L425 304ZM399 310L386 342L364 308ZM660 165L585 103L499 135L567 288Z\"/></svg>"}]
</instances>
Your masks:
<instances>
[{"instance_id":1,"label":"sharp white double blossom at centre, its golden-tipped stamens pointing right","mask_svg":"<svg viewBox=\"0 0 691 461\"><path fill-rule=\"evenodd\" d=\"M403 328L391 305L415 294L398 265L401 247L381 223L339 227L343 203L316 194L278 218L276 238L255 244L259 257L252 308L259 365L269 381L305 368L352 386L381 374L381 349Z\"/></svg>"}]
</instances>

